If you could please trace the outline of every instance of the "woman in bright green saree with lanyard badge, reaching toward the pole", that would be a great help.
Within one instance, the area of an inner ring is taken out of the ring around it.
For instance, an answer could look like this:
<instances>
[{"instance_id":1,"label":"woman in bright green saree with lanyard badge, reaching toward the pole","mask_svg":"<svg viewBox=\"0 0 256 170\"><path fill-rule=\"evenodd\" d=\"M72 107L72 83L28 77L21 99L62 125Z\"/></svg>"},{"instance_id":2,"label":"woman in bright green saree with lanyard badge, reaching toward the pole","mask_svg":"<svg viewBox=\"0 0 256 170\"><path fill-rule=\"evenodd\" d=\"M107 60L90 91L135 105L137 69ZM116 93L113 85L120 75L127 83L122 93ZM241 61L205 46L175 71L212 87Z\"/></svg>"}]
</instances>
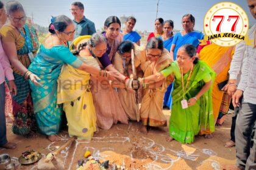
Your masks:
<instances>
[{"instance_id":1,"label":"woman in bright green saree with lanyard badge, reaching toward the pole","mask_svg":"<svg viewBox=\"0 0 256 170\"><path fill-rule=\"evenodd\" d=\"M200 131L212 133L215 130L211 96L215 72L204 62L198 61L195 55L196 48L186 44L180 47L177 61L172 62L171 66L139 80L145 86L174 75L168 141L192 143Z\"/></svg>"}]
</instances>

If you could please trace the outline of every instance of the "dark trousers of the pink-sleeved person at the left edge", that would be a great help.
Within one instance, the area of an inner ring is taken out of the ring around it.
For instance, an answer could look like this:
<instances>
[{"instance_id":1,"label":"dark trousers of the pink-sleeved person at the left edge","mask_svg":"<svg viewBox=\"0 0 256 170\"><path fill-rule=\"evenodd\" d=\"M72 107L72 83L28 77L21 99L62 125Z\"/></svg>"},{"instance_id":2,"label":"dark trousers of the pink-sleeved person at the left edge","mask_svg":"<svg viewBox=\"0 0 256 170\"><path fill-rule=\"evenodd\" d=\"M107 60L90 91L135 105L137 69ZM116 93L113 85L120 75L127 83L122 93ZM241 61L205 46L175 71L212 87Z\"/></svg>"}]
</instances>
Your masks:
<instances>
[{"instance_id":1,"label":"dark trousers of the pink-sleeved person at the left edge","mask_svg":"<svg viewBox=\"0 0 256 170\"><path fill-rule=\"evenodd\" d=\"M2 83L0 84L0 146L3 146L4 144L7 143L4 104L5 104L5 87L4 87L4 83Z\"/></svg>"}]
</instances>

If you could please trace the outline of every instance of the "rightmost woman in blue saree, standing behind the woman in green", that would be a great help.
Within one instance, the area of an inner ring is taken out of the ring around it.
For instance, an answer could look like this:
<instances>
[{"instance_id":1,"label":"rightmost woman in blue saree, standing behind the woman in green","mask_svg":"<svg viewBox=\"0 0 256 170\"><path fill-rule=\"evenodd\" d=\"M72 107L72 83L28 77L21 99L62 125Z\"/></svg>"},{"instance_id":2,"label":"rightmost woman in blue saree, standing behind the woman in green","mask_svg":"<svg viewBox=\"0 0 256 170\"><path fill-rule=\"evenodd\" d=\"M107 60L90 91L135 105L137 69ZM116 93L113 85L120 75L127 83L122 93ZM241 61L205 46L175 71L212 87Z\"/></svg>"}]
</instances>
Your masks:
<instances>
[{"instance_id":1,"label":"rightmost woman in blue saree, standing behind the woman in green","mask_svg":"<svg viewBox=\"0 0 256 170\"><path fill-rule=\"evenodd\" d=\"M171 46L171 56L172 59L176 60L178 49L185 44L192 44L197 47L199 44L199 39L203 39L204 35L201 32L194 31L194 16L191 14L186 14L182 17L182 27L183 30L174 35L172 46Z\"/></svg>"}]
</instances>

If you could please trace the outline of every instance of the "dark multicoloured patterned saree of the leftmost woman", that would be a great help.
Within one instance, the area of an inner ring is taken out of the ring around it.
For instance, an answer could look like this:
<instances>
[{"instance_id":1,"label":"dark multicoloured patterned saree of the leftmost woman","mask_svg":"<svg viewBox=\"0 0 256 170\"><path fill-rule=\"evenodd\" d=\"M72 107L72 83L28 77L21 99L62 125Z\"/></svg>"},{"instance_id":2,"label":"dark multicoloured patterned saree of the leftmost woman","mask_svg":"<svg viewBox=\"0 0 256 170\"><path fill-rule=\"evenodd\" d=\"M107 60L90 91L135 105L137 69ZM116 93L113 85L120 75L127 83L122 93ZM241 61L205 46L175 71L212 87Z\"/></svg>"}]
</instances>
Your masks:
<instances>
[{"instance_id":1,"label":"dark multicoloured patterned saree of the leftmost woman","mask_svg":"<svg viewBox=\"0 0 256 170\"><path fill-rule=\"evenodd\" d=\"M35 54L38 49L38 36L35 34L34 28L27 24L24 25L21 32L26 36L9 25L4 25L1 28L2 41L15 42L18 60L27 68L30 64L28 53L31 49L29 49L29 44L32 44L32 52ZM29 136L31 132L36 131L29 83L18 69L13 66L12 69L17 87L17 94L12 97L14 116L12 131L14 134Z\"/></svg>"}]
</instances>

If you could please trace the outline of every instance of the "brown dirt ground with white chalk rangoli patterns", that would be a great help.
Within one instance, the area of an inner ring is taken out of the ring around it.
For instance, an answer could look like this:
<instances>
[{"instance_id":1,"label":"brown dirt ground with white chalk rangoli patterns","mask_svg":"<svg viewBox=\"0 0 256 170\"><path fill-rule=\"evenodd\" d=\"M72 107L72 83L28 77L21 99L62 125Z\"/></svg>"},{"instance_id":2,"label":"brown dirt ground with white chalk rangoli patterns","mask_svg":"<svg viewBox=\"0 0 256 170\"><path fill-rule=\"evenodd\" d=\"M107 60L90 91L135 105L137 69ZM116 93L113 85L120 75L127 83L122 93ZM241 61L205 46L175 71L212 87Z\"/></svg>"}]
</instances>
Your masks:
<instances>
[{"instance_id":1,"label":"brown dirt ground with white chalk rangoli patterns","mask_svg":"<svg viewBox=\"0 0 256 170\"><path fill-rule=\"evenodd\" d=\"M169 120L169 110L164 110ZM235 164L235 148L225 148L230 138L231 117L228 115L222 126L216 126L212 139L197 136L193 144L166 141L168 128L150 129L141 134L137 122L116 124L108 131L99 130L91 141L76 140L59 155L65 169L76 169L77 161L90 151L100 161L109 160L126 169L221 169L221 165ZM30 149L43 155L54 151L68 140L67 132L61 132L61 141L51 143L43 135L28 139L12 134L11 124L7 125L9 141L17 144L17 149L0 149L0 154L8 153L17 161L21 153ZM29 166L18 165L18 169L37 169L37 163Z\"/></svg>"}]
</instances>

